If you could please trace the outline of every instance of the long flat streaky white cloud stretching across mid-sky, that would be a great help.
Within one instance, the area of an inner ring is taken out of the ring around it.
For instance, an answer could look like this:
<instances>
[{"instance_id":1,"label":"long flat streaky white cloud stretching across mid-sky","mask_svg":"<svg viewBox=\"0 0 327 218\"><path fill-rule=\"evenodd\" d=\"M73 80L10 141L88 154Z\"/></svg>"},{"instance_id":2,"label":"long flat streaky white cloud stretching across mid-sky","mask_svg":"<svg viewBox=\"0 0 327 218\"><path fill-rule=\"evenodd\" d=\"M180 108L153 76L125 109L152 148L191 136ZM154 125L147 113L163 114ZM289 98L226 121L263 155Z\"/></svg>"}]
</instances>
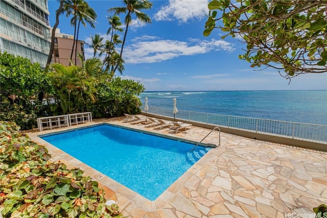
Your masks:
<instances>
[{"instance_id":1,"label":"long flat streaky white cloud stretching across mid-sky","mask_svg":"<svg viewBox=\"0 0 327 218\"><path fill-rule=\"evenodd\" d=\"M146 39L146 36L144 38ZM223 40L188 40L134 40L133 44L124 48L123 57L126 63L155 63L179 56L205 54L212 50L225 52L235 50L232 43Z\"/></svg>"}]
</instances>

